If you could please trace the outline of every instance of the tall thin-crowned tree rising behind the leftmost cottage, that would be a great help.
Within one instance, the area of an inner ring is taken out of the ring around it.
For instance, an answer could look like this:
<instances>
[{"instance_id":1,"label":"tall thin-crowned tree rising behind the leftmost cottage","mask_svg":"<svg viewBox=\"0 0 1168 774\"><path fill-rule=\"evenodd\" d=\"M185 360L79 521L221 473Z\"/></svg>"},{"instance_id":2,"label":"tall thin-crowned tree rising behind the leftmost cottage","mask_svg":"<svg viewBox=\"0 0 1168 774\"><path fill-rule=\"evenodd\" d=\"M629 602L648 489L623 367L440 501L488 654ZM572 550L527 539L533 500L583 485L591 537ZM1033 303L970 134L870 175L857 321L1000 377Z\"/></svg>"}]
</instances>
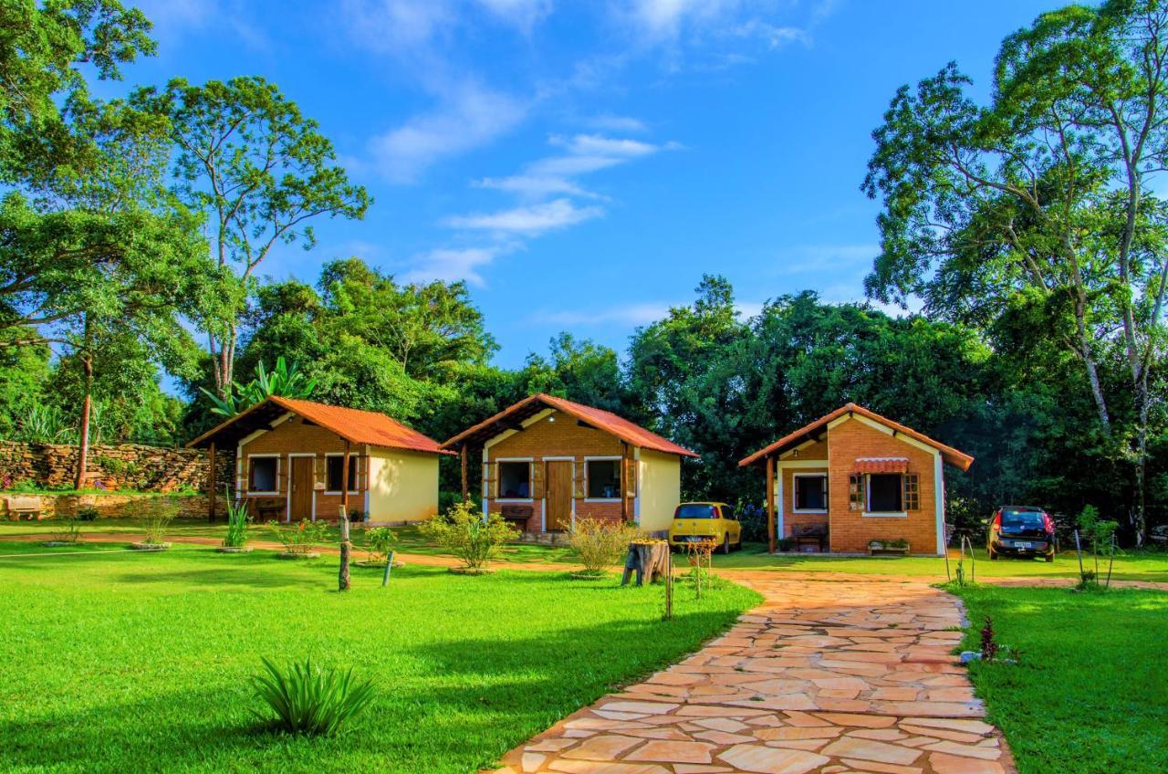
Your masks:
<instances>
[{"instance_id":1,"label":"tall thin-crowned tree rising behind the leftmost cottage","mask_svg":"<svg viewBox=\"0 0 1168 774\"><path fill-rule=\"evenodd\" d=\"M175 78L162 92L139 89L132 101L169 118L175 195L206 216L215 261L236 279L222 305L196 310L215 392L227 398L256 269L278 244L312 248L314 219L361 219L370 200L333 164L333 144L317 122L264 78L201 87Z\"/></svg>"}]
</instances>

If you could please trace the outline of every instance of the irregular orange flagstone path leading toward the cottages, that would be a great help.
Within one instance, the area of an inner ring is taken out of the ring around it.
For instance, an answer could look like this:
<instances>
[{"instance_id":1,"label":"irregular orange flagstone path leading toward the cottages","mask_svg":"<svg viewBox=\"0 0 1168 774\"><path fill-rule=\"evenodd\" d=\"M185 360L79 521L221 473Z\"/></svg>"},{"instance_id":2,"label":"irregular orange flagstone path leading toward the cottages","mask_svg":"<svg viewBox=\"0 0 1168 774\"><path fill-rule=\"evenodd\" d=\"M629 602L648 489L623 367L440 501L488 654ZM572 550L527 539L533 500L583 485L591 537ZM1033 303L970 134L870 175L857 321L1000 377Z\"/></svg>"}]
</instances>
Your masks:
<instances>
[{"instance_id":1,"label":"irregular orange flagstone path leading toward the cottages","mask_svg":"<svg viewBox=\"0 0 1168 774\"><path fill-rule=\"evenodd\" d=\"M498 774L1015 772L950 654L955 597L920 580L732 576L766 601L512 751Z\"/></svg>"}]
</instances>

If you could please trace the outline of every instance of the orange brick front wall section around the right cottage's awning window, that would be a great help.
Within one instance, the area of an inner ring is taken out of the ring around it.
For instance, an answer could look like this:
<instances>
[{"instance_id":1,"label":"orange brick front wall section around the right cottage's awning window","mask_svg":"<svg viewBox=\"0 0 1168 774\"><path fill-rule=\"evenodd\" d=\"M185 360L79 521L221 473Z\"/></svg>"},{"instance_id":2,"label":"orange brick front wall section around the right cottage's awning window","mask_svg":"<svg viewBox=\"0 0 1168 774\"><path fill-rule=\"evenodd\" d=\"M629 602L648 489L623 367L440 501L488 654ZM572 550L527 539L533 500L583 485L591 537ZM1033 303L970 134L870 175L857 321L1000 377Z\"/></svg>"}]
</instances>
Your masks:
<instances>
[{"instance_id":1,"label":"orange brick front wall section around the right cottage's awning window","mask_svg":"<svg viewBox=\"0 0 1168 774\"><path fill-rule=\"evenodd\" d=\"M867 552L869 540L904 538L915 554L937 553L937 482L934 457L853 419L828 430L830 454L828 500L832 511L832 551ZM908 457L909 472L920 481L920 509L908 517L865 517L848 503L848 478L857 457Z\"/></svg>"}]
</instances>

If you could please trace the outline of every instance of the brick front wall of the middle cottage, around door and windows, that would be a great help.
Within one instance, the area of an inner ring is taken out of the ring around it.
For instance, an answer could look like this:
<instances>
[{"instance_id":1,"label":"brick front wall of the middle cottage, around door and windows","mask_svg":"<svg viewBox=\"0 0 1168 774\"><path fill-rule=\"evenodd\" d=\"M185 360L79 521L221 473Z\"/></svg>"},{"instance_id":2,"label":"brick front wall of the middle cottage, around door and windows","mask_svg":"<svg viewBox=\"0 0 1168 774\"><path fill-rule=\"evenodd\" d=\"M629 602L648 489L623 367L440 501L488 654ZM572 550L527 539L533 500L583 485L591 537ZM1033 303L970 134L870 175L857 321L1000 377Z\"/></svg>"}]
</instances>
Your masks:
<instances>
[{"instance_id":1,"label":"brick front wall of the middle cottage, around door and windows","mask_svg":"<svg viewBox=\"0 0 1168 774\"><path fill-rule=\"evenodd\" d=\"M547 457L570 457L575 462L575 482L572 500L576 507L577 519L600 519L605 521L620 521L620 503L590 502L584 497L584 462L585 457L619 457L621 454L620 440L603 430L586 428L565 414L555 412L544 416L523 430L514 433L508 437L496 442L487 450L487 458L491 467L486 479L489 486L487 507L491 512L500 512L505 505L529 505L531 516L527 521L528 532L540 532L543 524L543 488L547 482L547 472L543 469ZM628 451L630 458L633 456L632 449ZM531 503L500 503L495 498L499 470L496 461L506 457L531 457L533 468L533 495ZM630 465L634 468L634 465ZM633 474L635 475L635 474ZM627 475L621 482L627 495L634 491L635 482L630 481ZM628 498L628 518L633 518L633 499ZM550 524L548 527L550 528Z\"/></svg>"}]
</instances>

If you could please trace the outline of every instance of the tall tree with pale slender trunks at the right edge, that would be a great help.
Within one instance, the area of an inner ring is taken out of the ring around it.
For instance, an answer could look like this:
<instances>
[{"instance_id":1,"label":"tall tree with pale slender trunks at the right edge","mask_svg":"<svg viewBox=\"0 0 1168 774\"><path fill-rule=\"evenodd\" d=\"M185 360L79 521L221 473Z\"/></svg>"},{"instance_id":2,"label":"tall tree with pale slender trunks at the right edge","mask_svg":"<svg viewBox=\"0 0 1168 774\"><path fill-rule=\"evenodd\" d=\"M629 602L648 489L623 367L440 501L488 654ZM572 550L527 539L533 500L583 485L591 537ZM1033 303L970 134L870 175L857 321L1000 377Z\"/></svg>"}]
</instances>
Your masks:
<instances>
[{"instance_id":1,"label":"tall tree with pale slender trunks at the right edge","mask_svg":"<svg viewBox=\"0 0 1168 774\"><path fill-rule=\"evenodd\" d=\"M863 185L883 196L871 296L953 313L978 292L1000 306L1030 293L1082 362L1104 434L1132 396L1140 538L1168 285L1164 205L1149 193L1168 170L1166 22L1160 0L1070 6L1003 42L986 106L954 64L902 88ZM1113 348L1128 376L1108 396Z\"/></svg>"}]
</instances>

